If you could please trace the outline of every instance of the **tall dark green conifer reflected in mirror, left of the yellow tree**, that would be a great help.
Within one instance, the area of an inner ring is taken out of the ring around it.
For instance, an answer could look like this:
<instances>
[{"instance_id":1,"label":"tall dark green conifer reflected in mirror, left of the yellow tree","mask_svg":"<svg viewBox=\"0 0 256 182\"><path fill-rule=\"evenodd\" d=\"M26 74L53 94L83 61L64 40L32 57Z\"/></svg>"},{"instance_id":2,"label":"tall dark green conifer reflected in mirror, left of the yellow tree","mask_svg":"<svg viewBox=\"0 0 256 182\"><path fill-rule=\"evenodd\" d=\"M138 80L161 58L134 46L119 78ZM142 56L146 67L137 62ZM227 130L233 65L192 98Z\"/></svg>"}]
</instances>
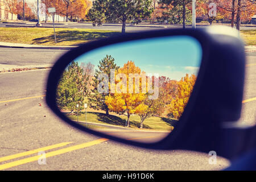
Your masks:
<instances>
[{"instance_id":1,"label":"tall dark green conifer reflected in mirror, left of the yellow tree","mask_svg":"<svg viewBox=\"0 0 256 182\"><path fill-rule=\"evenodd\" d=\"M98 69L96 69L93 78L93 90L89 96L89 106L96 110L106 111L106 115L109 115L109 107L105 104L105 97L109 96L110 90L108 90L108 93L98 92L98 86L102 81L100 75L104 73L110 78L110 70L117 70L118 68L119 67L114 63L114 58L110 55L106 55L98 64ZM108 80L108 82L110 82L110 80Z\"/></svg>"}]
</instances>

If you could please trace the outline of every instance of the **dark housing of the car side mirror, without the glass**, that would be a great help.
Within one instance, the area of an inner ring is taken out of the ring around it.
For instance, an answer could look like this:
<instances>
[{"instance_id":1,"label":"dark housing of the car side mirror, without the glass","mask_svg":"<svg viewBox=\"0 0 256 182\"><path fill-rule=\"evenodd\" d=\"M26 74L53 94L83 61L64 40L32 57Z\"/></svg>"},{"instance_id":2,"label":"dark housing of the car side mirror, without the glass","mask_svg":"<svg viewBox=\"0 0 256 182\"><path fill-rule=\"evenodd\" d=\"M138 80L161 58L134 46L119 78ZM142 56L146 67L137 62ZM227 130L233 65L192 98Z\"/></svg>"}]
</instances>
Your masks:
<instances>
[{"instance_id":1,"label":"dark housing of the car side mirror, without the glass","mask_svg":"<svg viewBox=\"0 0 256 182\"><path fill-rule=\"evenodd\" d=\"M226 31L233 31L231 29L227 28ZM191 36L198 40L203 48L203 58L194 90L179 125L163 140L138 143L106 135L72 122L57 108L55 97L59 79L67 65L76 57L114 43L177 35ZM236 121L240 117L244 75L245 49L238 36L210 32L208 28L130 33L90 42L61 56L49 73L46 101L63 121L86 133L144 148L209 152L221 140L216 137L221 132L221 122ZM218 152L218 148L216 151Z\"/></svg>"}]
</instances>

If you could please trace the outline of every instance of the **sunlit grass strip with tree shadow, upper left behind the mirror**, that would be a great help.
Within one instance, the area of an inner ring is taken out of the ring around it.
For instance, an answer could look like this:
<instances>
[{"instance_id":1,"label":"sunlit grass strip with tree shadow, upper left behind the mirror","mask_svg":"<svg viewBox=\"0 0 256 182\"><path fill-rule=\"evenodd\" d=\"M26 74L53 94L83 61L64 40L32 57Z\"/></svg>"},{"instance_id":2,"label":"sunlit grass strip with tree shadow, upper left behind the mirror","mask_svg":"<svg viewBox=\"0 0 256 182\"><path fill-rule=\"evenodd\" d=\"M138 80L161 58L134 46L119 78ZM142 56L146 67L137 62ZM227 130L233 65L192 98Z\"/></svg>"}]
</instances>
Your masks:
<instances>
[{"instance_id":1,"label":"sunlit grass strip with tree shadow, upper left behind the mirror","mask_svg":"<svg viewBox=\"0 0 256 182\"><path fill-rule=\"evenodd\" d=\"M119 35L121 32L80 29L55 28L57 44L55 44L53 28L0 28L0 42L37 44L43 46L77 46L89 40Z\"/></svg>"}]
</instances>

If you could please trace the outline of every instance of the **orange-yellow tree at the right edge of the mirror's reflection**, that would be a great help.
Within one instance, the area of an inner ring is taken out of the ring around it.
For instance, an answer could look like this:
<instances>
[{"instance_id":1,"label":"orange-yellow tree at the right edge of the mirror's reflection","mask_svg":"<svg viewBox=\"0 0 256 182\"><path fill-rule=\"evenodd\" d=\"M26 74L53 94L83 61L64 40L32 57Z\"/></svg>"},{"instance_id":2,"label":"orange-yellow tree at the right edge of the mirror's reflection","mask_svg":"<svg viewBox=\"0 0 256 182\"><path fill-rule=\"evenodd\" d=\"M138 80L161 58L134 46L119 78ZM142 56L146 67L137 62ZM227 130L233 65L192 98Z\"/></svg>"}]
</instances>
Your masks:
<instances>
[{"instance_id":1,"label":"orange-yellow tree at the right edge of the mirror's reflection","mask_svg":"<svg viewBox=\"0 0 256 182\"><path fill-rule=\"evenodd\" d=\"M172 97L171 104L168 105L170 113L177 119L179 119L188 103L189 97L191 96L193 86L196 82L196 76L188 74L181 78L177 82L177 93Z\"/></svg>"}]
</instances>

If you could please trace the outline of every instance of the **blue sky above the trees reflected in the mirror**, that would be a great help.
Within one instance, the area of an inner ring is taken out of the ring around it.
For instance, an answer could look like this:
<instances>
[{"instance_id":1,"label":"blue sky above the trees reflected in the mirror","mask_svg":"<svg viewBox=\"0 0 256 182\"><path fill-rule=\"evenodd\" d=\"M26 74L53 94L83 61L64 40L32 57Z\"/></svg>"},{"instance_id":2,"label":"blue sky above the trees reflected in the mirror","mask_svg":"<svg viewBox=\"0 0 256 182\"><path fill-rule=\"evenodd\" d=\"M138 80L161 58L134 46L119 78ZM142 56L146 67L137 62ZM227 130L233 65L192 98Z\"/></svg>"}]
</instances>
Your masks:
<instances>
[{"instance_id":1,"label":"blue sky above the trees reflected in the mirror","mask_svg":"<svg viewBox=\"0 0 256 182\"><path fill-rule=\"evenodd\" d=\"M197 74L201 64L201 45L189 36L152 38L118 43L95 49L78 57L79 63L92 63L97 68L100 60L111 55L120 67L127 61L146 73L157 73L172 80L180 80L186 73Z\"/></svg>"}]
</instances>

